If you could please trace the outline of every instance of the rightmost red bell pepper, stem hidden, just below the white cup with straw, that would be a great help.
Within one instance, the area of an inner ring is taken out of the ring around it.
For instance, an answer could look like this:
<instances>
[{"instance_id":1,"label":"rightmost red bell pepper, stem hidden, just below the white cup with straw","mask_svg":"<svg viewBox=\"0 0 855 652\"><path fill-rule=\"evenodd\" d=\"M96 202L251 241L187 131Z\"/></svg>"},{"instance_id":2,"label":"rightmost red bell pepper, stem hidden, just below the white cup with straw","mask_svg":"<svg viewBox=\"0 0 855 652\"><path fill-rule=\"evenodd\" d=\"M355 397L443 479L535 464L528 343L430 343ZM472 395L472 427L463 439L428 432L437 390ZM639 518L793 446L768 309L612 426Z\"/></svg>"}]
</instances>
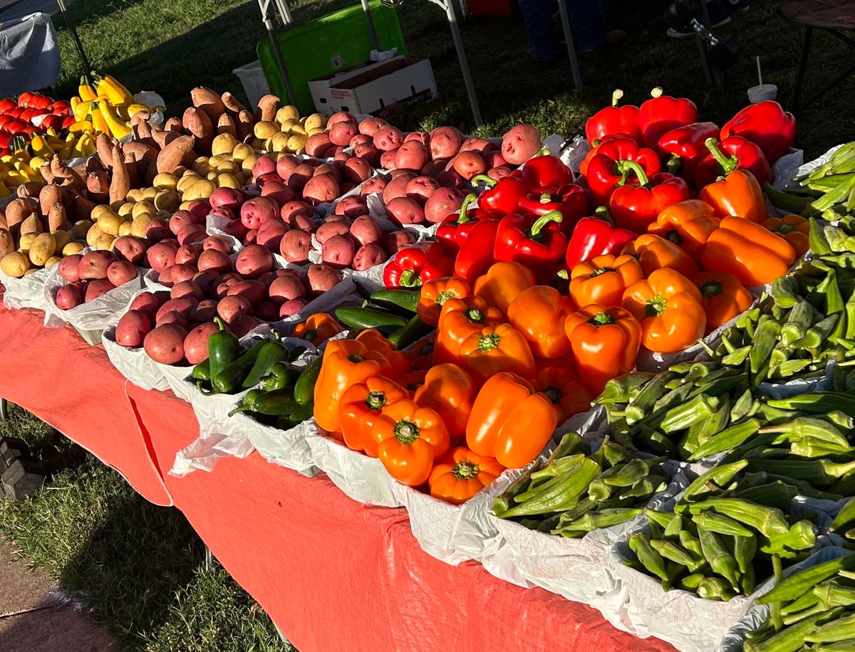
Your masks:
<instances>
[{"instance_id":1,"label":"rightmost red bell pepper, stem hidden, just below the white cup with straw","mask_svg":"<svg viewBox=\"0 0 855 652\"><path fill-rule=\"evenodd\" d=\"M741 136L763 150L769 165L787 154L796 137L796 119L781 104L764 100L734 115L722 126L722 138Z\"/></svg>"}]
</instances>

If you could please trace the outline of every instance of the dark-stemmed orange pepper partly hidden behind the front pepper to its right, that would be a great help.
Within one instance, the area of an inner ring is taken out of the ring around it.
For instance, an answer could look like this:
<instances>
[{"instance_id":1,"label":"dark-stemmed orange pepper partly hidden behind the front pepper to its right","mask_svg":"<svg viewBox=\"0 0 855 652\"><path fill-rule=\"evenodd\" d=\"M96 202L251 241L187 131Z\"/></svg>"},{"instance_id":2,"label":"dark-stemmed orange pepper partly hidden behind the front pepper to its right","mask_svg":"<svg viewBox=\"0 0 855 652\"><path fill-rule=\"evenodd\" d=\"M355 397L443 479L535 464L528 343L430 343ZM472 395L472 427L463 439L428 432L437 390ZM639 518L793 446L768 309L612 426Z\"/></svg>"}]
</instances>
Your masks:
<instances>
[{"instance_id":1,"label":"dark-stemmed orange pepper partly hidden behind the front pepper to its right","mask_svg":"<svg viewBox=\"0 0 855 652\"><path fill-rule=\"evenodd\" d=\"M374 421L386 403L402 398L410 398L410 392L384 376L372 376L348 387L339 403L341 434L347 447L376 457L377 442L371 436Z\"/></svg>"}]
</instances>

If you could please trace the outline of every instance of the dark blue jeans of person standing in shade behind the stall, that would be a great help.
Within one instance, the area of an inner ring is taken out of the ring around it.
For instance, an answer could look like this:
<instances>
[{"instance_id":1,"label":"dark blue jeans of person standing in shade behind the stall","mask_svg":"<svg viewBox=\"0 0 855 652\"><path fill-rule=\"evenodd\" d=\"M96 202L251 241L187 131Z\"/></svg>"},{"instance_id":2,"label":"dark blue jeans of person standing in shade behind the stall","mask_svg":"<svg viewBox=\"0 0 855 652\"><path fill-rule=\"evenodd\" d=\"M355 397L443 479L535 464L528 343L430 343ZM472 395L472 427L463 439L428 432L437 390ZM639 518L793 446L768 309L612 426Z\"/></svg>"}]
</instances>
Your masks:
<instances>
[{"instance_id":1,"label":"dark blue jeans of person standing in shade behind the stall","mask_svg":"<svg viewBox=\"0 0 855 652\"><path fill-rule=\"evenodd\" d=\"M562 2L562 0L559 0ZM599 0L563 0L567 3L577 46L582 52L605 43L605 19ZM528 40L538 61L554 59L558 45L550 0L519 0Z\"/></svg>"}]
</instances>

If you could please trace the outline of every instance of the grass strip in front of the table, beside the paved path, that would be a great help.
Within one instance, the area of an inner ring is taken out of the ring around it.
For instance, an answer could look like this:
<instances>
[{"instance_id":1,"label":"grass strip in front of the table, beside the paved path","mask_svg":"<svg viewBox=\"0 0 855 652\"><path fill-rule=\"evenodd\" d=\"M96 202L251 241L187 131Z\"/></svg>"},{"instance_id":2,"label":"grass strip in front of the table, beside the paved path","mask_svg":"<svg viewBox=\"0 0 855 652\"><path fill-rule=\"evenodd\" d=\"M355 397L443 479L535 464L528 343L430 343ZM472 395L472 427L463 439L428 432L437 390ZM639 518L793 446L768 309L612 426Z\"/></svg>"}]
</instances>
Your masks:
<instances>
[{"instance_id":1,"label":"grass strip in front of the table, beside the paved path","mask_svg":"<svg viewBox=\"0 0 855 652\"><path fill-rule=\"evenodd\" d=\"M20 408L0 434L25 438L51 472L24 504L0 500L3 534L90 607L124 649L288 649L257 603L216 564L206 566L203 543L177 509L146 502Z\"/></svg>"}]
</instances>

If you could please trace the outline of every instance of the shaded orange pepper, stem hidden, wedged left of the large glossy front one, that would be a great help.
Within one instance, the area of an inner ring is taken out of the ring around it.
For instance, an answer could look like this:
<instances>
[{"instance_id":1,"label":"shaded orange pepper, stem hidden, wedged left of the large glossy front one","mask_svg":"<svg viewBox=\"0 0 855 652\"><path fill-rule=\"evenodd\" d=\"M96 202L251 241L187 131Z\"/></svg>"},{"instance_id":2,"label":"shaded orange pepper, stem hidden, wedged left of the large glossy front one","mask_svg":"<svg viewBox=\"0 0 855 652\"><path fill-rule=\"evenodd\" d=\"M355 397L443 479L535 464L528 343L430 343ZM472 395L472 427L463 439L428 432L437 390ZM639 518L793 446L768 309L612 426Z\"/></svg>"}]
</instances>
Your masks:
<instances>
[{"instance_id":1,"label":"shaded orange pepper, stem hidden, wedged left of the large glossy front one","mask_svg":"<svg viewBox=\"0 0 855 652\"><path fill-rule=\"evenodd\" d=\"M466 422L477 393L469 373L457 365L445 364L428 370L424 385L416 390L413 400L422 408L435 410L445 421L451 441L460 442L466 437Z\"/></svg>"}]
</instances>

